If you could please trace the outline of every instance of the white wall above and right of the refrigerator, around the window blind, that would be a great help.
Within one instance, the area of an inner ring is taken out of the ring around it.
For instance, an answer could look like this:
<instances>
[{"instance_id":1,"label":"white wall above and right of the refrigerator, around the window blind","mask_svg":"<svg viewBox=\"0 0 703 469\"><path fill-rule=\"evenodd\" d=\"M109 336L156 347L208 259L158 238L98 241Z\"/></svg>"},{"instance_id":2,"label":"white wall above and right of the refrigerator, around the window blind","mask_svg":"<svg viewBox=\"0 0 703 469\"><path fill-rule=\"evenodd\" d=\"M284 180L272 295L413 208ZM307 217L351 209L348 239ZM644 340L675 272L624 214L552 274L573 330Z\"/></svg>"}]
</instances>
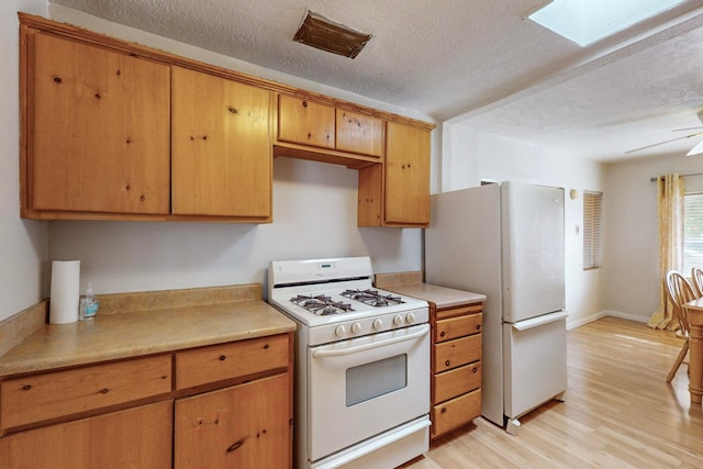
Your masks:
<instances>
[{"instance_id":1,"label":"white wall above and right of the refrigerator, around the window blind","mask_svg":"<svg viewBox=\"0 0 703 469\"><path fill-rule=\"evenodd\" d=\"M583 271L583 190L603 190L602 167L590 160L487 134L458 124L444 124L442 191L476 187L481 179L555 186L579 192L565 203L566 308L568 327L592 321L605 310L601 294L603 269ZM579 233L577 233L577 225ZM604 241L606 242L606 241Z\"/></svg>"}]
</instances>

